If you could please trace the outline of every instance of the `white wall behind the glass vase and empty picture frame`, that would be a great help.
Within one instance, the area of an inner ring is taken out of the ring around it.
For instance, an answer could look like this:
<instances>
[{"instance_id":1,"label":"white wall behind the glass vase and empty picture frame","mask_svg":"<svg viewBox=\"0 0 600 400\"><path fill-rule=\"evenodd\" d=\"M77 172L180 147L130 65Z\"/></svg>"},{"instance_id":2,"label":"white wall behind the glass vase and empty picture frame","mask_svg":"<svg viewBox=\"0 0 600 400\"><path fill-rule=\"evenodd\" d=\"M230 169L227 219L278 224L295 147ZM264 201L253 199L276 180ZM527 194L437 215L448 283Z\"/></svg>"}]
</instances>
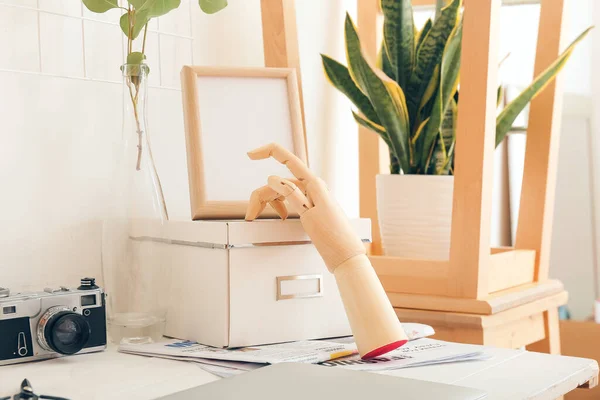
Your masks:
<instances>
[{"instance_id":1,"label":"white wall behind the glass vase and empty picture frame","mask_svg":"<svg viewBox=\"0 0 600 400\"><path fill-rule=\"evenodd\" d=\"M343 59L346 10L354 14L356 0L297 2L309 158L357 215L357 130L319 58ZM35 290L100 276L121 134L118 18L90 13L80 0L0 0L0 286ZM260 18L260 0L229 0L211 16L182 0L150 27L149 132L171 217L190 214L179 70L263 65Z\"/></svg>"}]
</instances>

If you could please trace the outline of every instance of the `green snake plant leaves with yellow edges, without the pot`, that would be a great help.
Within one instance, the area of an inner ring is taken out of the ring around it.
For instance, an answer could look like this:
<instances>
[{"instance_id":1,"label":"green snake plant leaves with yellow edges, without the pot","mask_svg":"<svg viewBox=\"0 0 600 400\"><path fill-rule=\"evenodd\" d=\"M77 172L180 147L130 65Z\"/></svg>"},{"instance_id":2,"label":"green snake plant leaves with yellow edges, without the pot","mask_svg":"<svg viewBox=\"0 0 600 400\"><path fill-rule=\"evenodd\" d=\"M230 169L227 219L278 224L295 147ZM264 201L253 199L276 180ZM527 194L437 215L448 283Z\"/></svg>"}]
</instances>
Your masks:
<instances>
[{"instance_id":1,"label":"green snake plant leaves with yellow edges, without the pot","mask_svg":"<svg viewBox=\"0 0 600 400\"><path fill-rule=\"evenodd\" d=\"M377 66L362 51L346 16L348 66L321 55L329 81L356 107L356 122L377 133L390 150L390 171L451 175L459 105L462 0L439 0L434 20L420 31L410 0L381 0L383 44ZM525 106L560 72L585 30L496 119L498 145ZM501 90L498 90L499 96Z\"/></svg>"}]
</instances>

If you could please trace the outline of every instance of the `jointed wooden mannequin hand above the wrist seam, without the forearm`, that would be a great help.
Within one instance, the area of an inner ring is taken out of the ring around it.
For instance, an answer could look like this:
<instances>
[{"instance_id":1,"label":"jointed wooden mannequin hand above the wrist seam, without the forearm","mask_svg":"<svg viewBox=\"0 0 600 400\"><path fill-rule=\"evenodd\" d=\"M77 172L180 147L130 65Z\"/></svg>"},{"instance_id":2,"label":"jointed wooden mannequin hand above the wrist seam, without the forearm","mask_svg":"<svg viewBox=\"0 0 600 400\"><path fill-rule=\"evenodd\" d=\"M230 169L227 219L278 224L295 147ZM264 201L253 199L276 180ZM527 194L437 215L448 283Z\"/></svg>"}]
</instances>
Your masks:
<instances>
[{"instance_id":1,"label":"jointed wooden mannequin hand above the wrist seam, without the forearm","mask_svg":"<svg viewBox=\"0 0 600 400\"><path fill-rule=\"evenodd\" d=\"M285 200L291 211L300 215L304 230L325 260L330 272L357 255L365 254L365 246L358 238L348 218L330 196L322 179L313 175L294 154L277 143L248 152L252 160L273 157L288 167L296 179L270 176L268 185L252 192L246 221L256 219L267 203L282 219L288 216Z\"/></svg>"}]
</instances>

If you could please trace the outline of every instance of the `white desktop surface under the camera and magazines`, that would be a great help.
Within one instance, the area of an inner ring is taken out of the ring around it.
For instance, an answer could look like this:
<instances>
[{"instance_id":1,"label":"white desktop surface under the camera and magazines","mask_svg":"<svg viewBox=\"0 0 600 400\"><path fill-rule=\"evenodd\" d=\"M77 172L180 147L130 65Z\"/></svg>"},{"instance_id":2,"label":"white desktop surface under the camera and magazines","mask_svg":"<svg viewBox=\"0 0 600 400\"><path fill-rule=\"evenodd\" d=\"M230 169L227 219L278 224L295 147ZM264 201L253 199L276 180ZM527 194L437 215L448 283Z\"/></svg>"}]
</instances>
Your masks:
<instances>
[{"instance_id":1,"label":"white desktop surface under the camera and magazines","mask_svg":"<svg viewBox=\"0 0 600 400\"><path fill-rule=\"evenodd\" d=\"M494 358L390 371L389 375L483 389L490 400L555 399L597 382L596 361L489 349ZM155 399L219 379L193 363L102 353L0 367L0 396L16 393L23 378L36 392L79 399Z\"/></svg>"}]
</instances>

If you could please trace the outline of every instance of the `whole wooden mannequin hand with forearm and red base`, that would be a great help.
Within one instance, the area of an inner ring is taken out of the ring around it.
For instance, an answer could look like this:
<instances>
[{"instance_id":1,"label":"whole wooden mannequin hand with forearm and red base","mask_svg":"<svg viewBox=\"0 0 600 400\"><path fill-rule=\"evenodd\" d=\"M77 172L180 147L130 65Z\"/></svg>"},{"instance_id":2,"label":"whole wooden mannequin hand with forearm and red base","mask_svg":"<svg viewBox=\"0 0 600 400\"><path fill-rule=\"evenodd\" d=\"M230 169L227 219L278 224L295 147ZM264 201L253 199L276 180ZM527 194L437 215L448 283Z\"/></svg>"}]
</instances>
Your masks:
<instances>
[{"instance_id":1,"label":"whole wooden mannequin hand with forearm and red base","mask_svg":"<svg viewBox=\"0 0 600 400\"><path fill-rule=\"evenodd\" d=\"M267 203L285 219L286 200L292 211L300 215L304 230L335 276L361 357L377 357L406 343L408 338L363 243L329 195L325 183L298 157L276 143L253 150L248 156L253 160L273 157L285 164L296 179L270 176L268 185L252 192L246 220L258 217Z\"/></svg>"}]
</instances>

